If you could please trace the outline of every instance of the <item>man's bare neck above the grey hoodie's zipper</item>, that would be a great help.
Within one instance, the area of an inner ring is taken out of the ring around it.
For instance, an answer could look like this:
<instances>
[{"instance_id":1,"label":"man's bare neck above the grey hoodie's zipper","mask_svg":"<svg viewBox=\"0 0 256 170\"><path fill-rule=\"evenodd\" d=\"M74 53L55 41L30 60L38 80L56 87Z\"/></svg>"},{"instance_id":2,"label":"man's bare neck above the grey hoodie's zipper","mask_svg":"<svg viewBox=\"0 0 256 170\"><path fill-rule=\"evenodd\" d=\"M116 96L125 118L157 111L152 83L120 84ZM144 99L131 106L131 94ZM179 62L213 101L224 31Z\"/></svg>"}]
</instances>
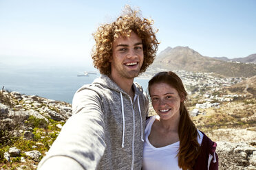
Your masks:
<instances>
[{"instance_id":1,"label":"man's bare neck above the grey hoodie's zipper","mask_svg":"<svg viewBox=\"0 0 256 170\"><path fill-rule=\"evenodd\" d=\"M120 88L122 88L122 90L124 90L131 97L131 99L134 99L134 89L132 88L134 79L113 77L112 75L109 75L109 78L113 80Z\"/></svg>"}]
</instances>

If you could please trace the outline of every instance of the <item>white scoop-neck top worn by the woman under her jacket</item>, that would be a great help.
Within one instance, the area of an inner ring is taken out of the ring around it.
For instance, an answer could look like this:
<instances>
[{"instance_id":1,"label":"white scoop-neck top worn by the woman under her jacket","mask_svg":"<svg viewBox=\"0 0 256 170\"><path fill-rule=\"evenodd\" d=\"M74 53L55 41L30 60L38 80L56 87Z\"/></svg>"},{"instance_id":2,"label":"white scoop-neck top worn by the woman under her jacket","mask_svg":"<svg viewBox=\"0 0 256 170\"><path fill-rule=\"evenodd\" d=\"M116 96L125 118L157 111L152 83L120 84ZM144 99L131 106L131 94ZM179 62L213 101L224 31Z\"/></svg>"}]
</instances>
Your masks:
<instances>
[{"instance_id":1,"label":"white scoop-neck top worn by the woman under her jacket","mask_svg":"<svg viewBox=\"0 0 256 170\"><path fill-rule=\"evenodd\" d=\"M165 147L153 147L149 142L149 134L151 132L151 127L153 122L156 120L153 116L147 120L147 125L145 129L145 142L142 160L143 170L176 170L180 169L178 166L178 149L180 147L180 141L167 145ZM198 143L201 145L203 134L198 130Z\"/></svg>"}]
</instances>

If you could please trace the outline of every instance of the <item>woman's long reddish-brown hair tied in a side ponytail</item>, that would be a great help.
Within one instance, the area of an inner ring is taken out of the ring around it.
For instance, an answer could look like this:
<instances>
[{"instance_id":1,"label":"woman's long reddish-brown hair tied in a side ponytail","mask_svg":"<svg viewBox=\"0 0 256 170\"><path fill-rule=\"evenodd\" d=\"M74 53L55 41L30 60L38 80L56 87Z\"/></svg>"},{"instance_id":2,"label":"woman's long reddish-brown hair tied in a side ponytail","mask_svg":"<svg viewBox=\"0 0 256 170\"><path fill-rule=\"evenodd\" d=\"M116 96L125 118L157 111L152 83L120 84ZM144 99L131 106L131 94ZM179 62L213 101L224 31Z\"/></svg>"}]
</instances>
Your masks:
<instances>
[{"instance_id":1,"label":"woman's long reddish-brown hair tied in a side ponytail","mask_svg":"<svg viewBox=\"0 0 256 170\"><path fill-rule=\"evenodd\" d=\"M200 145L198 143L198 130L195 124L189 117L189 112L184 105L187 93L178 75L169 72L160 72L154 75L149 80L149 95L150 87L156 83L166 83L178 91L180 98L180 122L178 127L178 134L180 138L180 148L178 151L178 165L180 168L187 170L193 169L195 160L200 154Z\"/></svg>"}]
</instances>

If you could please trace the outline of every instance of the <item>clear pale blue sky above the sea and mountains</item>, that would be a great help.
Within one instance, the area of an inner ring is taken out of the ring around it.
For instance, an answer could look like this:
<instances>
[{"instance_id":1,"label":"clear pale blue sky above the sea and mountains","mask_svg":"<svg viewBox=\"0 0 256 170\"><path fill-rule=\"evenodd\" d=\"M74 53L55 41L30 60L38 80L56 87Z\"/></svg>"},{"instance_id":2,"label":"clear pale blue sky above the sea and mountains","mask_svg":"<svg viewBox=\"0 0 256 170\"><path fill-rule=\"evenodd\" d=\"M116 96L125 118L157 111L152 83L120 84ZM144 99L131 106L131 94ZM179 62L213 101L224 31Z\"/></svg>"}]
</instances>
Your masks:
<instances>
[{"instance_id":1,"label":"clear pale blue sky above the sea and mountains","mask_svg":"<svg viewBox=\"0 0 256 170\"><path fill-rule=\"evenodd\" d=\"M0 0L0 62L92 65L92 32L125 4L155 21L158 53L176 46L209 57L256 53L255 0Z\"/></svg>"}]
</instances>

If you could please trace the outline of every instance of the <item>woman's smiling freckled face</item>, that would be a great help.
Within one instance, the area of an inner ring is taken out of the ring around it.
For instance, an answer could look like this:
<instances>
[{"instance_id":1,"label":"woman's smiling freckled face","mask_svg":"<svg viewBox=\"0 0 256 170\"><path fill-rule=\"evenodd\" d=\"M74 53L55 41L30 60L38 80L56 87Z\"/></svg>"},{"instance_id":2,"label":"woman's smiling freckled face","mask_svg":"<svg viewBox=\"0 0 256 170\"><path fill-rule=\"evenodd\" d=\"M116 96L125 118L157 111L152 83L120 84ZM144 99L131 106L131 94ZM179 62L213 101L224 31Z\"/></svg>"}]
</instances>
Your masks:
<instances>
[{"instance_id":1,"label":"woman's smiling freckled face","mask_svg":"<svg viewBox=\"0 0 256 170\"><path fill-rule=\"evenodd\" d=\"M152 84L150 97L153 109L160 119L168 120L180 117L180 96L178 91L164 82Z\"/></svg>"}]
</instances>

